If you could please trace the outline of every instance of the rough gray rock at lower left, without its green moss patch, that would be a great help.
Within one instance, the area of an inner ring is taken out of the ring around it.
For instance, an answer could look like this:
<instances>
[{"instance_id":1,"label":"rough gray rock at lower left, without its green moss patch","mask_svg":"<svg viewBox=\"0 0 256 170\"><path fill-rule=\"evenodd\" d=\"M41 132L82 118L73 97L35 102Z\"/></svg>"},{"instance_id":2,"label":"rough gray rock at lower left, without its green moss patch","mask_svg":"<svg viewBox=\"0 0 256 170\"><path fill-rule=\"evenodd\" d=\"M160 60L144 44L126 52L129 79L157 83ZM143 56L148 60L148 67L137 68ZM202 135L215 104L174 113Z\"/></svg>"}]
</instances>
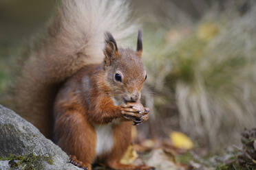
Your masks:
<instances>
[{"instance_id":1,"label":"rough gray rock at lower left, without its green moss patch","mask_svg":"<svg viewBox=\"0 0 256 170\"><path fill-rule=\"evenodd\" d=\"M0 158L8 157L10 154L34 154L51 158L53 165L40 160L43 169L79 169L68 163L67 154L45 138L34 125L0 105ZM19 166L18 169L21 168ZM8 161L0 160L0 169L10 169Z\"/></svg>"}]
</instances>

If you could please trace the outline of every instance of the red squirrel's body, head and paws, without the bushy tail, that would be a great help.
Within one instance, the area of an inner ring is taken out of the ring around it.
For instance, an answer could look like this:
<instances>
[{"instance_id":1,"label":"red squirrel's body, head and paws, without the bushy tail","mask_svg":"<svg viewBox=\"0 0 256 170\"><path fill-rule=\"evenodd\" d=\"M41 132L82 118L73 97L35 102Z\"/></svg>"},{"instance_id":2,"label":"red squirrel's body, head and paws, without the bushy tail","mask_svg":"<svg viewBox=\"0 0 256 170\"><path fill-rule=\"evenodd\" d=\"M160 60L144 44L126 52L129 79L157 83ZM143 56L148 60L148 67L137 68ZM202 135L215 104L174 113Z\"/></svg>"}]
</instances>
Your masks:
<instances>
[{"instance_id":1,"label":"red squirrel's body, head and paws, without the bushy tail","mask_svg":"<svg viewBox=\"0 0 256 170\"><path fill-rule=\"evenodd\" d=\"M106 34L105 60L90 64L61 87L54 104L54 137L71 162L91 169L98 160L112 169L152 169L120 164L131 143L131 125L146 121L149 109L136 109L147 75L143 68L141 32L137 51L118 48ZM139 112L142 113L139 114ZM76 161L80 160L79 161Z\"/></svg>"}]
</instances>

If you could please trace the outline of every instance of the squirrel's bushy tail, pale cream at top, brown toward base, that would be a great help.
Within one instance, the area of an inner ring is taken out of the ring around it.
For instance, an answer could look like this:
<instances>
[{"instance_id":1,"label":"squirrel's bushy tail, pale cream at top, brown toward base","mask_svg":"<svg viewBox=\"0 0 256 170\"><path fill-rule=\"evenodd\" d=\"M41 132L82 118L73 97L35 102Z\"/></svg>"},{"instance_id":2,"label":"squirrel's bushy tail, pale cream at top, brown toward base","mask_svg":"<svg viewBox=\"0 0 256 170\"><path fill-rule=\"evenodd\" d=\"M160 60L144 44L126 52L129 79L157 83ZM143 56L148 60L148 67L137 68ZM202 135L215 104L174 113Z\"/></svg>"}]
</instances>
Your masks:
<instances>
[{"instance_id":1,"label":"squirrel's bushy tail, pale cream at top, brown toward base","mask_svg":"<svg viewBox=\"0 0 256 170\"><path fill-rule=\"evenodd\" d=\"M118 0L63 0L47 33L30 47L14 96L17 112L50 138L58 86L82 66L103 60L104 34L136 34L129 4Z\"/></svg>"}]
</instances>

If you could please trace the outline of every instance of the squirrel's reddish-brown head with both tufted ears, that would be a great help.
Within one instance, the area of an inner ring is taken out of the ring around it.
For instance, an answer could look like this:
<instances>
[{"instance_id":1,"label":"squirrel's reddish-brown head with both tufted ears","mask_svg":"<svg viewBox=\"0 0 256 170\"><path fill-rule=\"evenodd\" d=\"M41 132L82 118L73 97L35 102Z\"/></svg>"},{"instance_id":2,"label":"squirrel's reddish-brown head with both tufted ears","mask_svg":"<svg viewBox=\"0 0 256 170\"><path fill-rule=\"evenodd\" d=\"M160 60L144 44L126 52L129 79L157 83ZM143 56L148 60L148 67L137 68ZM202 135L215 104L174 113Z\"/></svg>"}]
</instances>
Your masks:
<instances>
[{"instance_id":1,"label":"squirrel's reddish-brown head with both tufted ears","mask_svg":"<svg viewBox=\"0 0 256 170\"><path fill-rule=\"evenodd\" d=\"M109 96L114 97L118 103L138 101L140 90L147 79L142 64L142 34L139 30L137 50L122 49L116 45L114 37L105 34L105 77Z\"/></svg>"}]
</instances>

